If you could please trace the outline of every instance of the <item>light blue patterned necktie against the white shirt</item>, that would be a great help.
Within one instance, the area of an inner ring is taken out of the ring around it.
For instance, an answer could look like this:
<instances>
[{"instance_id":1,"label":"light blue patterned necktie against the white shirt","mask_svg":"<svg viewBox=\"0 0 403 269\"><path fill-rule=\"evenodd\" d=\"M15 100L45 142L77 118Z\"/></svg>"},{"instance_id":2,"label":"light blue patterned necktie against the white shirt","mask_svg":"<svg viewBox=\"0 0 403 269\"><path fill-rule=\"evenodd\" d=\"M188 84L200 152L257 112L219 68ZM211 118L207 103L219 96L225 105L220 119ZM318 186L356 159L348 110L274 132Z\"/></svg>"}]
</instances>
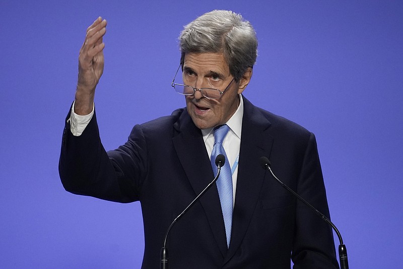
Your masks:
<instances>
[{"instance_id":1,"label":"light blue patterned necktie against the white shirt","mask_svg":"<svg viewBox=\"0 0 403 269\"><path fill-rule=\"evenodd\" d=\"M211 166L213 168L213 172L215 175L217 174L216 157L219 154L223 154L225 156L225 164L221 168L220 177L218 178L216 184L218 194L220 196L221 209L223 211L228 248L230 246L230 240L231 240L233 190L232 190L232 173L230 164L228 162L227 154L225 154L225 150L223 147L223 140L229 130L230 128L226 124L214 128L214 147L211 153Z\"/></svg>"}]
</instances>

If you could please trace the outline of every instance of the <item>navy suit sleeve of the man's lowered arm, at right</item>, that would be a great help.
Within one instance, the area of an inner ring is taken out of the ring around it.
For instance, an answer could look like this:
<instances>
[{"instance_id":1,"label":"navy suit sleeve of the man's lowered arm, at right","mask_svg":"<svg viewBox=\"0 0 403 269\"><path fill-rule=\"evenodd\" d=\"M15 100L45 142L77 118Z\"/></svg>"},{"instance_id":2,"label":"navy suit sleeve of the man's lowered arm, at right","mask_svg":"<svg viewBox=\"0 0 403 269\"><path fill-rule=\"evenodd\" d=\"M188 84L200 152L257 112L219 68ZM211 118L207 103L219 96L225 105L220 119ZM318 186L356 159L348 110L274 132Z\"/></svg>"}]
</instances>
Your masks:
<instances>
[{"instance_id":1,"label":"navy suit sleeve of the man's lowered arm, at right","mask_svg":"<svg viewBox=\"0 0 403 269\"><path fill-rule=\"evenodd\" d=\"M315 136L311 133L297 183L297 193L330 219ZM294 269L339 268L331 227L297 202L292 251Z\"/></svg>"}]
</instances>

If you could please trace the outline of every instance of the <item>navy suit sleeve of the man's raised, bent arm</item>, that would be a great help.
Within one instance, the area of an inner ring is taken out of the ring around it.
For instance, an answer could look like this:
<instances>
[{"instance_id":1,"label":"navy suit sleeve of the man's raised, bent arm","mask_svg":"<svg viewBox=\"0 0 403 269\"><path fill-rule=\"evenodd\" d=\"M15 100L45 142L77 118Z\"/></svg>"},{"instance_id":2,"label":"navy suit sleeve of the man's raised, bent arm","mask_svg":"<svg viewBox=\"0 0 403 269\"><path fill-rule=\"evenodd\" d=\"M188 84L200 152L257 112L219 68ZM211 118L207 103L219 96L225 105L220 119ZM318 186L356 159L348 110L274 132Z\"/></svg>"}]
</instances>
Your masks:
<instances>
[{"instance_id":1,"label":"navy suit sleeve of the man's raised, bent arm","mask_svg":"<svg viewBox=\"0 0 403 269\"><path fill-rule=\"evenodd\" d=\"M65 190L122 203L139 200L146 174L146 142L140 127L133 128L124 145L106 152L95 113L81 136L72 134L69 118L70 113L59 158L59 175Z\"/></svg>"}]
</instances>

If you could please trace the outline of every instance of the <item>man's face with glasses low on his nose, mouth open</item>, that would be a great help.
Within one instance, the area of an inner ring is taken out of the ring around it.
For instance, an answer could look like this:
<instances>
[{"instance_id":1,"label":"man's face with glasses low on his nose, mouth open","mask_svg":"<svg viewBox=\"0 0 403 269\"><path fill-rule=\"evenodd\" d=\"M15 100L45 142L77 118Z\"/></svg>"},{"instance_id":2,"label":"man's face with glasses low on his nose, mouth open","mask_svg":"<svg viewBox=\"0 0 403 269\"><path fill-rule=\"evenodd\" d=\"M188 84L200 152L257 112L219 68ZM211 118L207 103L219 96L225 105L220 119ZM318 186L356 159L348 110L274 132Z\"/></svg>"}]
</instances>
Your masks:
<instances>
[{"instance_id":1,"label":"man's face with glasses low on his nose, mouth open","mask_svg":"<svg viewBox=\"0 0 403 269\"><path fill-rule=\"evenodd\" d=\"M217 88L223 91L233 79L222 53L186 53L183 63L183 82L195 88ZM249 77L250 79L250 77ZM213 128L226 123L239 105L239 96L246 85L242 78L235 80L219 99L208 99L195 91L186 96L186 108L199 129ZM247 81L249 82L249 80Z\"/></svg>"}]
</instances>

